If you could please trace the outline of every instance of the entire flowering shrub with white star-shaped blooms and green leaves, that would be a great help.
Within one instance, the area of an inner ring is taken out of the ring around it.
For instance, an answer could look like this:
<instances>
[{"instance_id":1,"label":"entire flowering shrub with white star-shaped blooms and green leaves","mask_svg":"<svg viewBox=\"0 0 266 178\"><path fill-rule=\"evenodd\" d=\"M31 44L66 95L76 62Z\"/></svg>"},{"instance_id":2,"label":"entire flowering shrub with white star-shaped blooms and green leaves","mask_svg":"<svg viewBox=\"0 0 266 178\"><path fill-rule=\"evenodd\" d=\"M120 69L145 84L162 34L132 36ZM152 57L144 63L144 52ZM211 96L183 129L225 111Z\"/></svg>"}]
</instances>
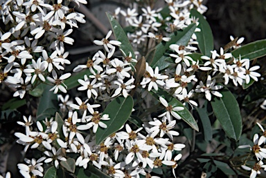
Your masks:
<instances>
[{"instance_id":1,"label":"entire flowering shrub with white star-shaped blooms and green leaves","mask_svg":"<svg viewBox=\"0 0 266 178\"><path fill-rule=\"evenodd\" d=\"M197 163L205 177L218 169L256 177L266 167L263 123L250 144L240 113L263 94L251 90L243 107L238 101L238 90L260 82L254 59L266 55L266 41L241 46L244 38L231 37L214 50L202 1L165 1L107 13L112 30L94 40L103 48L73 74L64 73L71 63L64 46L85 16L69 1L0 1L0 82L19 98L1 117L24 127L15 132L22 176L184 177ZM72 100L67 92L75 89ZM265 101L254 107L265 110ZM35 112L10 109L26 103Z\"/></svg>"}]
</instances>

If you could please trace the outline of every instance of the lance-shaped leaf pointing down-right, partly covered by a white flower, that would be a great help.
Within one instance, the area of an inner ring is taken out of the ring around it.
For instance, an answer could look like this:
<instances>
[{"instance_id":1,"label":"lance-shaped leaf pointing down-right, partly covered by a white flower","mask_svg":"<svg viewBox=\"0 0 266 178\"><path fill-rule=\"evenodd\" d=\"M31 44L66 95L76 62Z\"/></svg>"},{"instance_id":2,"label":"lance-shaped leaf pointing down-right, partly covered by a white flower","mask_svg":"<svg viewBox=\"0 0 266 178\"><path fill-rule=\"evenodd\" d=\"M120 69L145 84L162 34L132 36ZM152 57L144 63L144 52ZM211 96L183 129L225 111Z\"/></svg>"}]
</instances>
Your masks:
<instances>
[{"instance_id":1,"label":"lance-shaped leaf pointing down-right, partly covered by a white flower","mask_svg":"<svg viewBox=\"0 0 266 178\"><path fill-rule=\"evenodd\" d=\"M166 99L166 101L168 102L169 105L171 105L172 107L176 107L176 106L181 106L184 107L184 105L175 97L172 97L171 95L168 94L168 92L164 91L161 88L158 88L158 90L151 90L150 94L155 97L158 101L159 101L159 97L163 97L164 99ZM188 123L188 125L199 131L199 127L197 126L197 122L195 121L193 115L191 115L191 113L189 112L189 110L184 107L184 110L180 110L177 111L177 114L181 117L181 119L183 119L184 121L186 121L186 123Z\"/></svg>"}]
</instances>

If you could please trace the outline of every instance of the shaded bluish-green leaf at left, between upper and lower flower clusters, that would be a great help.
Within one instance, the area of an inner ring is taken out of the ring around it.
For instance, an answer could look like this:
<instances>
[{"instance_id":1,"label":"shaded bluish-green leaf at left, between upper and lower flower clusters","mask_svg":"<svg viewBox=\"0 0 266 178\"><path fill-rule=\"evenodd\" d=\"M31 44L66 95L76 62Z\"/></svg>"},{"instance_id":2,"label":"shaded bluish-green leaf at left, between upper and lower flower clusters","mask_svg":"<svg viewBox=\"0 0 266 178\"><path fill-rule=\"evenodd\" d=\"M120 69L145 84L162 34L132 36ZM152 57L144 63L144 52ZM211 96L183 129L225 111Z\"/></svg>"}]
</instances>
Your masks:
<instances>
[{"instance_id":1,"label":"shaded bluish-green leaf at left, between upper and lower flower clusters","mask_svg":"<svg viewBox=\"0 0 266 178\"><path fill-rule=\"evenodd\" d=\"M42 97L39 99L39 105L37 108L37 120L45 119L45 117L51 117L55 115L55 112L59 109L57 95L52 91L49 91L53 86L46 86Z\"/></svg>"}]
</instances>

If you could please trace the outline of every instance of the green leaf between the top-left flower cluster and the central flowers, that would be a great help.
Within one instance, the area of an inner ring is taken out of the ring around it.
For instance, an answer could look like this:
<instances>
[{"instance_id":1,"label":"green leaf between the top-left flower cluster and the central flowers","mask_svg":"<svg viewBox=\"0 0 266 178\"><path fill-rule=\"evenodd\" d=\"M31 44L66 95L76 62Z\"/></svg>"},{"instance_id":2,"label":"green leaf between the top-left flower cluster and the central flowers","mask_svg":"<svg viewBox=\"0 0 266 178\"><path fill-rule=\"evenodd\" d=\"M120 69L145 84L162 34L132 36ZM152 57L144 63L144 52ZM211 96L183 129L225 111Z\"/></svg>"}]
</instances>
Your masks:
<instances>
[{"instance_id":1,"label":"green leaf between the top-left flower cluster and the central flowers","mask_svg":"<svg viewBox=\"0 0 266 178\"><path fill-rule=\"evenodd\" d=\"M89 69L86 68L85 70L82 70L80 72L73 73L71 77L66 79L64 81L64 84L67 86L67 90L80 86L80 83L78 83L78 79L84 79L84 75L91 75Z\"/></svg>"}]
</instances>

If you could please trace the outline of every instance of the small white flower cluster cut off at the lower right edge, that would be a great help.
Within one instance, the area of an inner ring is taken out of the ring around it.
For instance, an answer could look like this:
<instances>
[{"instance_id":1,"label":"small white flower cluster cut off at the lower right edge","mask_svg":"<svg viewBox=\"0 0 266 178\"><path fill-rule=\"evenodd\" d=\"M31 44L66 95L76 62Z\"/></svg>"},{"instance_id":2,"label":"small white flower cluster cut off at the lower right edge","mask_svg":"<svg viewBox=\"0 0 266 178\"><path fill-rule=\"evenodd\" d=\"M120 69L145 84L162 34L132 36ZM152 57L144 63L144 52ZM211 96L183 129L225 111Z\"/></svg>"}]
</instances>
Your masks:
<instances>
[{"instance_id":1,"label":"small white flower cluster cut off at the lower right edge","mask_svg":"<svg viewBox=\"0 0 266 178\"><path fill-rule=\"evenodd\" d=\"M246 165L246 164L241 166L245 170L249 170L249 171L251 170L251 174L250 174L251 178L255 178L257 175L260 175L261 169L266 170L266 165L263 162L263 159L266 159L266 148L265 148L265 144L266 144L265 133L266 132L260 123L257 122L257 125L260 127L260 130L263 131L263 134L260 137L258 136L257 133L254 135L254 138L253 138L254 145L253 146L250 146L250 145L238 146L238 148L250 148L252 153L257 158L257 162L253 165L252 168L250 168L250 165Z\"/></svg>"}]
</instances>

